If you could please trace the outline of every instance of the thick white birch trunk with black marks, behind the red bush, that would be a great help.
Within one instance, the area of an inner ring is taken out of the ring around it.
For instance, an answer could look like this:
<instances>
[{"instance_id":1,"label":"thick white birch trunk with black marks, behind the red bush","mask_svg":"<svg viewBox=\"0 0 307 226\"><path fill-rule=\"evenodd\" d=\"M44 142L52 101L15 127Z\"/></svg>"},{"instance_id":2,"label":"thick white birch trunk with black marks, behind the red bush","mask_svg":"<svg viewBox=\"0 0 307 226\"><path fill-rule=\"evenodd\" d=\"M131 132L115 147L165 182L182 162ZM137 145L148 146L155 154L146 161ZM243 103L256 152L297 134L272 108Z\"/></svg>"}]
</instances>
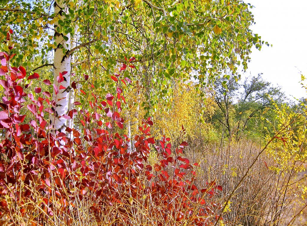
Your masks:
<instances>
[{"instance_id":1,"label":"thick white birch trunk with black marks, behind the red bush","mask_svg":"<svg viewBox=\"0 0 307 226\"><path fill-rule=\"evenodd\" d=\"M64 14L67 13L68 8L64 4L63 0L57 0L54 2L54 12L59 20L64 19ZM56 31L59 26L58 22L54 23L54 42L56 43L56 48L54 49L54 86L58 89L58 93L53 92L52 99L55 101L54 116L51 117L51 123L54 130L65 132L67 126L67 119L59 118L64 114L68 113L68 95L70 91L70 76L71 76L71 56L66 56L65 53L70 50L70 34L63 34ZM63 36L68 37L65 41ZM57 81L57 77L60 73L67 72L64 75L64 81ZM59 89L60 86L64 86L66 89Z\"/></svg>"}]
</instances>

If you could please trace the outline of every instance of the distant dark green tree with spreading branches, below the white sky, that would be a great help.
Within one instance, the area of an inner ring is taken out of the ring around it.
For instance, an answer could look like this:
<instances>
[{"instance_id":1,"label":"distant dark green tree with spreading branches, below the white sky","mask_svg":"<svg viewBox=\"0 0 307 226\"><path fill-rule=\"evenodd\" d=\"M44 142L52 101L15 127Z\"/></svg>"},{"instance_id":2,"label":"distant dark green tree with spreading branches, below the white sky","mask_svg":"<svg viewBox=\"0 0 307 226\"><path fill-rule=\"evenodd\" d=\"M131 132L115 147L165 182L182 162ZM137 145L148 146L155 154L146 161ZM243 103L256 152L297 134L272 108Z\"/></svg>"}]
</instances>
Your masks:
<instances>
[{"instance_id":1,"label":"distant dark green tree with spreading branches, below the white sky","mask_svg":"<svg viewBox=\"0 0 307 226\"><path fill-rule=\"evenodd\" d=\"M222 125L227 137L235 135L237 140L243 131L263 131L256 126L260 116L270 117L272 101L285 102L285 95L279 87L262 79L261 74L237 83L235 76L226 81L216 80L211 95L215 99L218 111L212 119Z\"/></svg>"}]
</instances>

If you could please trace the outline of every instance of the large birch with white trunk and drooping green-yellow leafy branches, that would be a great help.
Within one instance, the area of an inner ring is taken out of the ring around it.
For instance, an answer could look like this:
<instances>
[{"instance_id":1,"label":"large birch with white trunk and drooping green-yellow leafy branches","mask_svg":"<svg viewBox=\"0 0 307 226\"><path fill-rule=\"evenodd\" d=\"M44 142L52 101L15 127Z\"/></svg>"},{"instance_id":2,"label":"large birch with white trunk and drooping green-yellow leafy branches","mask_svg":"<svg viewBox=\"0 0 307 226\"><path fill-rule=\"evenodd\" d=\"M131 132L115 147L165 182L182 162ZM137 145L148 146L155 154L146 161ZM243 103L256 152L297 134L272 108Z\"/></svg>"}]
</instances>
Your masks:
<instances>
[{"instance_id":1,"label":"large birch with white trunk and drooping green-yellow leafy branches","mask_svg":"<svg viewBox=\"0 0 307 226\"><path fill-rule=\"evenodd\" d=\"M136 72L125 73L131 90L145 93L146 110L161 101L167 105L173 84L189 80L192 71L197 71L198 88L226 69L238 75L239 66L247 68L252 46L267 44L250 29L251 8L240 0L13 0L0 2L0 33L14 30L12 38L20 46L14 50L16 64L25 62L33 71L53 68L51 124L65 131L68 123L73 126L72 119L67 122L69 103L74 92L79 94L71 82L72 68L79 80L89 76L78 81L86 93L80 97L84 105L93 90L105 95L114 86L110 76L118 64L134 57ZM78 40L71 38L75 33ZM37 55L41 65L33 65Z\"/></svg>"}]
</instances>

